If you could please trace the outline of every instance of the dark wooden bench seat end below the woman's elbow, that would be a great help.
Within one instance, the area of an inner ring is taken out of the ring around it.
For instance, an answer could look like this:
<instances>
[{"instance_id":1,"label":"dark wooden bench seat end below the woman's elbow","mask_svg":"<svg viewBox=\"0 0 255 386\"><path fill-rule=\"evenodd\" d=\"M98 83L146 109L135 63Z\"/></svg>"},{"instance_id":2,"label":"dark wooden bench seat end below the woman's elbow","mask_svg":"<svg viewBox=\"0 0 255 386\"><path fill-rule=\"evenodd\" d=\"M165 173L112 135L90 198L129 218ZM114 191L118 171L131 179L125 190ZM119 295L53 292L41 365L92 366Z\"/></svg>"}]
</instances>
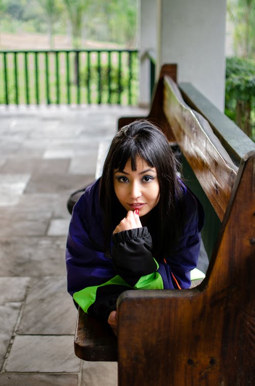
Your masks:
<instances>
[{"instance_id":1,"label":"dark wooden bench seat end below the woman's elbow","mask_svg":"<svg viewBox=\"0 0 255 386\"><path fill-rule=\"evenodd\" d=\"M85 314L79 307L74 352L85 360L117 360L117 338L107 323Z\"/></svg>"}]
</instances>

